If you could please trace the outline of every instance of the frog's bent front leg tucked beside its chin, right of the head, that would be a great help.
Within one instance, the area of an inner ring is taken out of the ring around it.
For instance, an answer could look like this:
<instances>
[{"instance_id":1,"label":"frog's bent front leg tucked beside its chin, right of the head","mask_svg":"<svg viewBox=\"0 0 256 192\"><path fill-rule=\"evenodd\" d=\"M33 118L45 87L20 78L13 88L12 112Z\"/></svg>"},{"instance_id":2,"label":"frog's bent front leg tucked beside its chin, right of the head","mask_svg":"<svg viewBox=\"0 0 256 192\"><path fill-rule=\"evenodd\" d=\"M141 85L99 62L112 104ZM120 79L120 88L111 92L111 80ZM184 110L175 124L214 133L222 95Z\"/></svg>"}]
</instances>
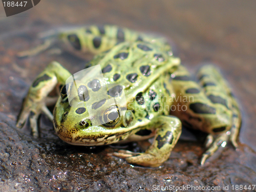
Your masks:
<instances>
[{"instance_id":1,"label":"frog's bent front leg tucked beside its chin, right of the head","mask_svg":"<svg viewBox=\"0 0 256 192\"><path fill-rule=\"evenodd\" d=\"M157 116L146 126L156 129L156 135L150 148L144 153L133 153L120 150L114 156L125 158L128 163L157 167L166 161L181 134L181 122L174 116ZM141 128L143 129L143 127Z\"/></svg>"}]
</instances>

